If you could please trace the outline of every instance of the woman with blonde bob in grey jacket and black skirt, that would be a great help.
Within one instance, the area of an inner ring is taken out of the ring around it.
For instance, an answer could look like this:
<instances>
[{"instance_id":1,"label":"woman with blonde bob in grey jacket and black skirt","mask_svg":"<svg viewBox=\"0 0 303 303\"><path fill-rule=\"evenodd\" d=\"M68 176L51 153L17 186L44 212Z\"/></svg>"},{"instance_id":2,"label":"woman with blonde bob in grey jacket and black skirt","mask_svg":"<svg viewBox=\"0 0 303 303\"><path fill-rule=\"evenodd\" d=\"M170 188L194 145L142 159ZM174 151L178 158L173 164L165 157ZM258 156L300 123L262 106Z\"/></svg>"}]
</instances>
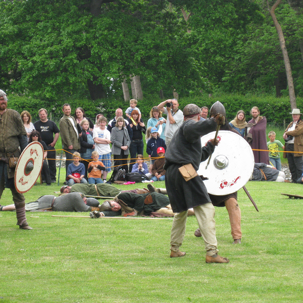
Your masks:
<instances>
[{"instance_id":1,"label":"woman with blonde bob in grey jacket and black skirt","mask_svg":"<svg viewBox=\"0 0 303 303\"><path fill-rule=\"evenodd\" d=\"M130 138L125 128L124 118L118 117L116 126L112 129L112 154L114 155L114 166L123 165L126 173L128 173L129 145Z\"/></svg>"}]
</instances>

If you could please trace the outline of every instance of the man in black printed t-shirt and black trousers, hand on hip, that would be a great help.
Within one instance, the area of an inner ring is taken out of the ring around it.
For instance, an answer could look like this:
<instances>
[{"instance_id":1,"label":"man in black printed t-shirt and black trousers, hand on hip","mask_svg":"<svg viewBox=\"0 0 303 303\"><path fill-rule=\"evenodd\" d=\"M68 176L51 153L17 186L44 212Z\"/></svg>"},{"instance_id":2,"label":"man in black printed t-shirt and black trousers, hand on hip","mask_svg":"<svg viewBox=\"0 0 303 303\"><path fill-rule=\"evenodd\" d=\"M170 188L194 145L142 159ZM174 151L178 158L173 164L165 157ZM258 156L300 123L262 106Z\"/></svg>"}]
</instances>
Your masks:
<instances>
[{"instance_id":1,"label":"man in black printed t-shirt and black trousers, hand on hip","mask_svg":"<svg viewBox=\"0 0 303 303\"><path fill-rule=\"evenodd\" d=\"M58 141L60 131L54 121L47 119L47 111L45 109L40 109L38 113L40 120L34 123L34 127L40 133L41 139L47 145L49 174L51 175L52 183L55 183L57 174L55 144Z\"/></svg>"}]
</instances>

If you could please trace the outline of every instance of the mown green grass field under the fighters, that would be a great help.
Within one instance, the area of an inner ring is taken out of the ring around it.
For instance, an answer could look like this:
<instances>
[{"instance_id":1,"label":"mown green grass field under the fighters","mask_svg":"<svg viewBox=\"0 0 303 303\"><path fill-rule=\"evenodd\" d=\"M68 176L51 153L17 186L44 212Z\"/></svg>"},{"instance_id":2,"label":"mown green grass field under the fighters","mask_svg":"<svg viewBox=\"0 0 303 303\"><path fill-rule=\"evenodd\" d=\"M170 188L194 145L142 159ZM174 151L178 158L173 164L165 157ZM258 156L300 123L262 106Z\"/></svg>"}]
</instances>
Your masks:
<instances>
[{"instance_id":1,"label":"mown green grass field under the fighters","mask_svg":"<svg viewBox=\"0 0 303 303\"><path fill-rule=\"evenodd\" d=\"M137 186L144 184L127 189ZM182 246L187 255L171 259L170 219L92 220L32 212L27 219L33 230L27 231L16 226L14 212L0 212L0 303L301 302L303 200L280 193L303 195L303 187L276 182L246 187L260 212L241 189L242 244L231 244L227 211L216 208L219 254L229 264L205 263L203 240L193 235L194 217L188 218ZM59 188L34 186L26 201ZM0 202L11 204L8 189Z\"/></svg>"}]
</instances>

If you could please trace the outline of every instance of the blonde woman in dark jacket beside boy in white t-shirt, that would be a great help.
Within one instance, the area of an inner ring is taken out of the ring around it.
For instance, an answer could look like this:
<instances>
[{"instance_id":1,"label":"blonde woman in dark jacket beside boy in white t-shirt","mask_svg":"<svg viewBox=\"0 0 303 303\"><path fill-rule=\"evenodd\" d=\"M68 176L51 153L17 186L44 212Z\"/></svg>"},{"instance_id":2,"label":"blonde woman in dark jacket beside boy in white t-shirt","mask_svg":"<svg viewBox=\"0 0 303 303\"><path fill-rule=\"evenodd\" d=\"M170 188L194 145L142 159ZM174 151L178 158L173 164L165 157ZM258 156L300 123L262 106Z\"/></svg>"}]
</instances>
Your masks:
<instances>
[{"instance_id":1,"label":"blonde woman in dark jacket beside boy in white t-shirt","mask_svg":"<svg viewBox=\"0 0 303 303\"><path fill-rule=\"evenodd\" d=\"M87 180L87 168L89 162L86 160L92 160L91 153L94 151L94 141L92 139L92 131L89 130L89 122L86 119L83 119L80 125L82 127L82 136L80 137L80 154L81 158L83 159L80 162L84 164L84 178Z\"/></svg>"}]
</instances>

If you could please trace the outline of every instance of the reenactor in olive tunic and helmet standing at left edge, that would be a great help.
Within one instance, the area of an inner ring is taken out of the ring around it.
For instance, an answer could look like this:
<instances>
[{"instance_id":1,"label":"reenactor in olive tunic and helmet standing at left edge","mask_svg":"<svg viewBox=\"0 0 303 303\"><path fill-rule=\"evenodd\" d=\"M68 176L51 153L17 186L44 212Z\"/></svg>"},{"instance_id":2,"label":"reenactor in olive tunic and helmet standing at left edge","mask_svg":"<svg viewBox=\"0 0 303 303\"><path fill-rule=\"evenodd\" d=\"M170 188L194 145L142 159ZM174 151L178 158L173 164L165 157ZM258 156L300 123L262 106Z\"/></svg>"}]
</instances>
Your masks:
<instances>
[{"instance_id":1,"label":"reenactor in olive tunic and helmet standing at left edge","mask_svg":"<svg viewBox=\"0 0 303 303\"><path fill-rule=\"evenodd\" d=\"M16 190L14 183L15 168L9 167L9 158L19 157L27 145L26 131L18 112L10 110L8 97L0 89L0 198L4 188L10 188L16 207L17 225L20 229L32 229L25 216L25 198Z\"/></svg>"}]
</instances>

